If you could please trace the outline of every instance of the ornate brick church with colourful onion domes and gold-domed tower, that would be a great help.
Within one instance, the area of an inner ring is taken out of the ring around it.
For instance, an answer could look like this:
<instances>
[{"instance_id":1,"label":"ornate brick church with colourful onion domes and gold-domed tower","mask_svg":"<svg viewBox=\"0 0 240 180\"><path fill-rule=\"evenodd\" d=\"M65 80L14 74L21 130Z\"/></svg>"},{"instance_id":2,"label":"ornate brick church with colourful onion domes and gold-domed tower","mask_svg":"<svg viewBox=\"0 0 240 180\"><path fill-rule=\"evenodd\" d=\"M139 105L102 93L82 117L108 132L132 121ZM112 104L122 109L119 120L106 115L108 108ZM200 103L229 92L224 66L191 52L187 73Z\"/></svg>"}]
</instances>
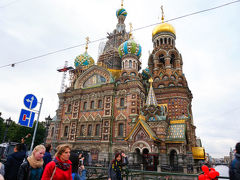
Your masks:
<instances>
[{"instance_id":1,"label":"ornate brick church with colourful onion domes and gold-domed tower","mask_svg":"<svg viewBox=\"0 0 240 180\"><path fill-rule=\"evenodd\" d=\"M174 27L164 22L162 13L162 23L152 31L153 50L144 59L148 67L142 69L142 47L132 30L126 31L123 4L116 16L116 29L108 33L97 61L88 54L88 38L85 52L75 58L70 86L58 94L47 143L68 143L89 152L96 162L124 152L130 163L144 157L155 170L158 164L204 159L204 152L194 157L198 143L192 93Z\"/></svg>"}]
</instances>

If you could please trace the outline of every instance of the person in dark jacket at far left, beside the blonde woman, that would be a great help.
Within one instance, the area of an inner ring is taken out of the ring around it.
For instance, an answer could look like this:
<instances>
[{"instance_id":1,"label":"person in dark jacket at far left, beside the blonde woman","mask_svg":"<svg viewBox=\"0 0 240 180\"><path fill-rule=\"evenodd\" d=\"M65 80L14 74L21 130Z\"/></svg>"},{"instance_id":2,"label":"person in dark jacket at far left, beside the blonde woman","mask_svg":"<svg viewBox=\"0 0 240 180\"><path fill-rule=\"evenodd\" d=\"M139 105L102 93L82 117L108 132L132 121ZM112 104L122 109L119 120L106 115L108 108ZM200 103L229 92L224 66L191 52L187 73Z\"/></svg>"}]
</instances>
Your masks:
<instances>
[{"instance_id":1,"label":"person in dark jacket at far left, beside the blonde woman","mask_svg":"<svg viewBox=\"0 0 240 180\"><path fill-rule=\"evenodd\" d=\"M16 180L20 165L26 156L26 151L22 150L22 144L16 144L14 147L14 153L7 157L5 164L5 179Z\"/></svg>"}]
</instances>

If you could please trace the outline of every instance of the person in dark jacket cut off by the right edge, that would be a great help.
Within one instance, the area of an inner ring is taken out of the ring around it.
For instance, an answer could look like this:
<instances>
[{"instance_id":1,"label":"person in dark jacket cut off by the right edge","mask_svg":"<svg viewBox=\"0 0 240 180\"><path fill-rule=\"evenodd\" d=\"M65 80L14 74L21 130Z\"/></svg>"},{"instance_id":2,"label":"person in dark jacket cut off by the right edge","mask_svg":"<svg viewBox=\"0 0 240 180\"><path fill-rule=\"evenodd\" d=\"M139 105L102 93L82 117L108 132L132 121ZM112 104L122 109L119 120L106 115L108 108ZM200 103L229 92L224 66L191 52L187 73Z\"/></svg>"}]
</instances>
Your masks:
<instances>
[{"instance_id":1,"label":"person in dark jacket cut off by the right edge","mask_svg":"<svg viewBox=\"0 0 240 180\"><path fill-rule=\"evenodd\" d=\"M231 162L229 168L230 180L240 180L240 142L236 144L235 159Z\"/></svg>"}]
</instances>

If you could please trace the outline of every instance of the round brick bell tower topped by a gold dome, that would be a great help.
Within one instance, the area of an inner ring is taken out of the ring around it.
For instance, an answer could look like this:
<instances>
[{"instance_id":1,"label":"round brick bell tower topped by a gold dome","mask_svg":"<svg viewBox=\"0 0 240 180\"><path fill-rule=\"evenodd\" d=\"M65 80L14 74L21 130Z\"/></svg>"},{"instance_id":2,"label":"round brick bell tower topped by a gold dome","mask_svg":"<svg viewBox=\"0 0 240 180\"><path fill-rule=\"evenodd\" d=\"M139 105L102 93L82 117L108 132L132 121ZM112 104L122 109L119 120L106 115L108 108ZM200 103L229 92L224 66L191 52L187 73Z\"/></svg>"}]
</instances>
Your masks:
<instances>
[{"instance_id":1,"label":"round brick bell tower topped by a gold dome","mask_svg":"<svg viewBox=\"0 0 240 180\"><path fill-rule=\"evenodd\" d=\"M153 78L153 88L158 104L167 104L169 122L184 120L187 127L187 151L196 144L191 103L192 93L183 73L182 56L176 48L174 27L162 22L152 31L153 51L148 59L148 66Z\"/></svg>"}]
</instances>

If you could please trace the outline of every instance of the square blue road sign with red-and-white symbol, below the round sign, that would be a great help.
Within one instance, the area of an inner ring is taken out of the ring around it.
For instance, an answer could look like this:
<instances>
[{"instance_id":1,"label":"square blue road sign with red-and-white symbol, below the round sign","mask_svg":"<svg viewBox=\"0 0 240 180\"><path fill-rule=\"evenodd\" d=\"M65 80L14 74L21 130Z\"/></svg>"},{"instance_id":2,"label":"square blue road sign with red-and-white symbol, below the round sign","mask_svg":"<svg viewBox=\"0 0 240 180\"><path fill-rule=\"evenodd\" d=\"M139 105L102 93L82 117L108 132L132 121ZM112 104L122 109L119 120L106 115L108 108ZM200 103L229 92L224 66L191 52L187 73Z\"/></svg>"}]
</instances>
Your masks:
<instances>
[{"instance_id":1,"label":"square blue road sign with red-and-white symbol, below the round sign","mask_svg":"<svg viewBox=\"0 0 240 180\"><path fill-rule=\"evenodd\" d=\"M35 112L22 109L18 123L22 126L32 127L34 121Z\"/></svg>"}]
</instances>

